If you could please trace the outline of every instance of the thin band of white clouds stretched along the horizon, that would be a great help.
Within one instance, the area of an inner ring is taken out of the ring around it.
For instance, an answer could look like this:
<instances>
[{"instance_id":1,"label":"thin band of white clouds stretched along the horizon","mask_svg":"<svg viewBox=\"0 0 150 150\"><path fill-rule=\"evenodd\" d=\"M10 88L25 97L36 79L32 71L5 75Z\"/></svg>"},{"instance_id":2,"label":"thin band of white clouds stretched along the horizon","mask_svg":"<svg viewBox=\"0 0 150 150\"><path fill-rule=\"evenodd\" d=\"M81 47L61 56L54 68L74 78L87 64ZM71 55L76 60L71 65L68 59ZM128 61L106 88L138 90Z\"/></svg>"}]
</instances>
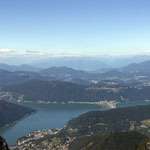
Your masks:
<instances>
[{"instance_id":1,"label":"thin band of white clouds stretched along the horizon","mask_svg":"<svg viewBox=\"0 0 150 150\"><path fill-rule=\"evenodd\" d=\"M0 49L0 57L86 57L86 56L93 56L93 57L120 57L120 56L135 56L135 55L150 55L150 50L135 52L130 54L83 54L79 52L73 51L38 51L38 50L26 50L26 51L19 51L19 50L12 50L12 49Z\"/></svg>"}]
</instances>

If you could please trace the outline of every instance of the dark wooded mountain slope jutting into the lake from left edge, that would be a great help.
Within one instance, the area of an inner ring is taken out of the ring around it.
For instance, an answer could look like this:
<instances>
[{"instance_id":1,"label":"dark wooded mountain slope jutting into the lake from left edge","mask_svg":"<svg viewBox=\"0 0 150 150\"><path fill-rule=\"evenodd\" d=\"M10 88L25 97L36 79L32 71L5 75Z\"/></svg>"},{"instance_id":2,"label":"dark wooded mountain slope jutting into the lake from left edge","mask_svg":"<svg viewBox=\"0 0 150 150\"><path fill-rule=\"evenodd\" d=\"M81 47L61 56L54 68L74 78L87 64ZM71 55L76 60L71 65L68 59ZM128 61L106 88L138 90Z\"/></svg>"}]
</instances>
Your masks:
<instances>
[{"instance_id":1,"label":"dark wooded mountain slope jutting into the lake from left edge","mask_svg":"<svg viewBox=\"0 0 150 150\"><path fill-rule=\"evenodd\" d=\"M36 110L0 100L0 128Z\"/></svg>"}]
</instances>

